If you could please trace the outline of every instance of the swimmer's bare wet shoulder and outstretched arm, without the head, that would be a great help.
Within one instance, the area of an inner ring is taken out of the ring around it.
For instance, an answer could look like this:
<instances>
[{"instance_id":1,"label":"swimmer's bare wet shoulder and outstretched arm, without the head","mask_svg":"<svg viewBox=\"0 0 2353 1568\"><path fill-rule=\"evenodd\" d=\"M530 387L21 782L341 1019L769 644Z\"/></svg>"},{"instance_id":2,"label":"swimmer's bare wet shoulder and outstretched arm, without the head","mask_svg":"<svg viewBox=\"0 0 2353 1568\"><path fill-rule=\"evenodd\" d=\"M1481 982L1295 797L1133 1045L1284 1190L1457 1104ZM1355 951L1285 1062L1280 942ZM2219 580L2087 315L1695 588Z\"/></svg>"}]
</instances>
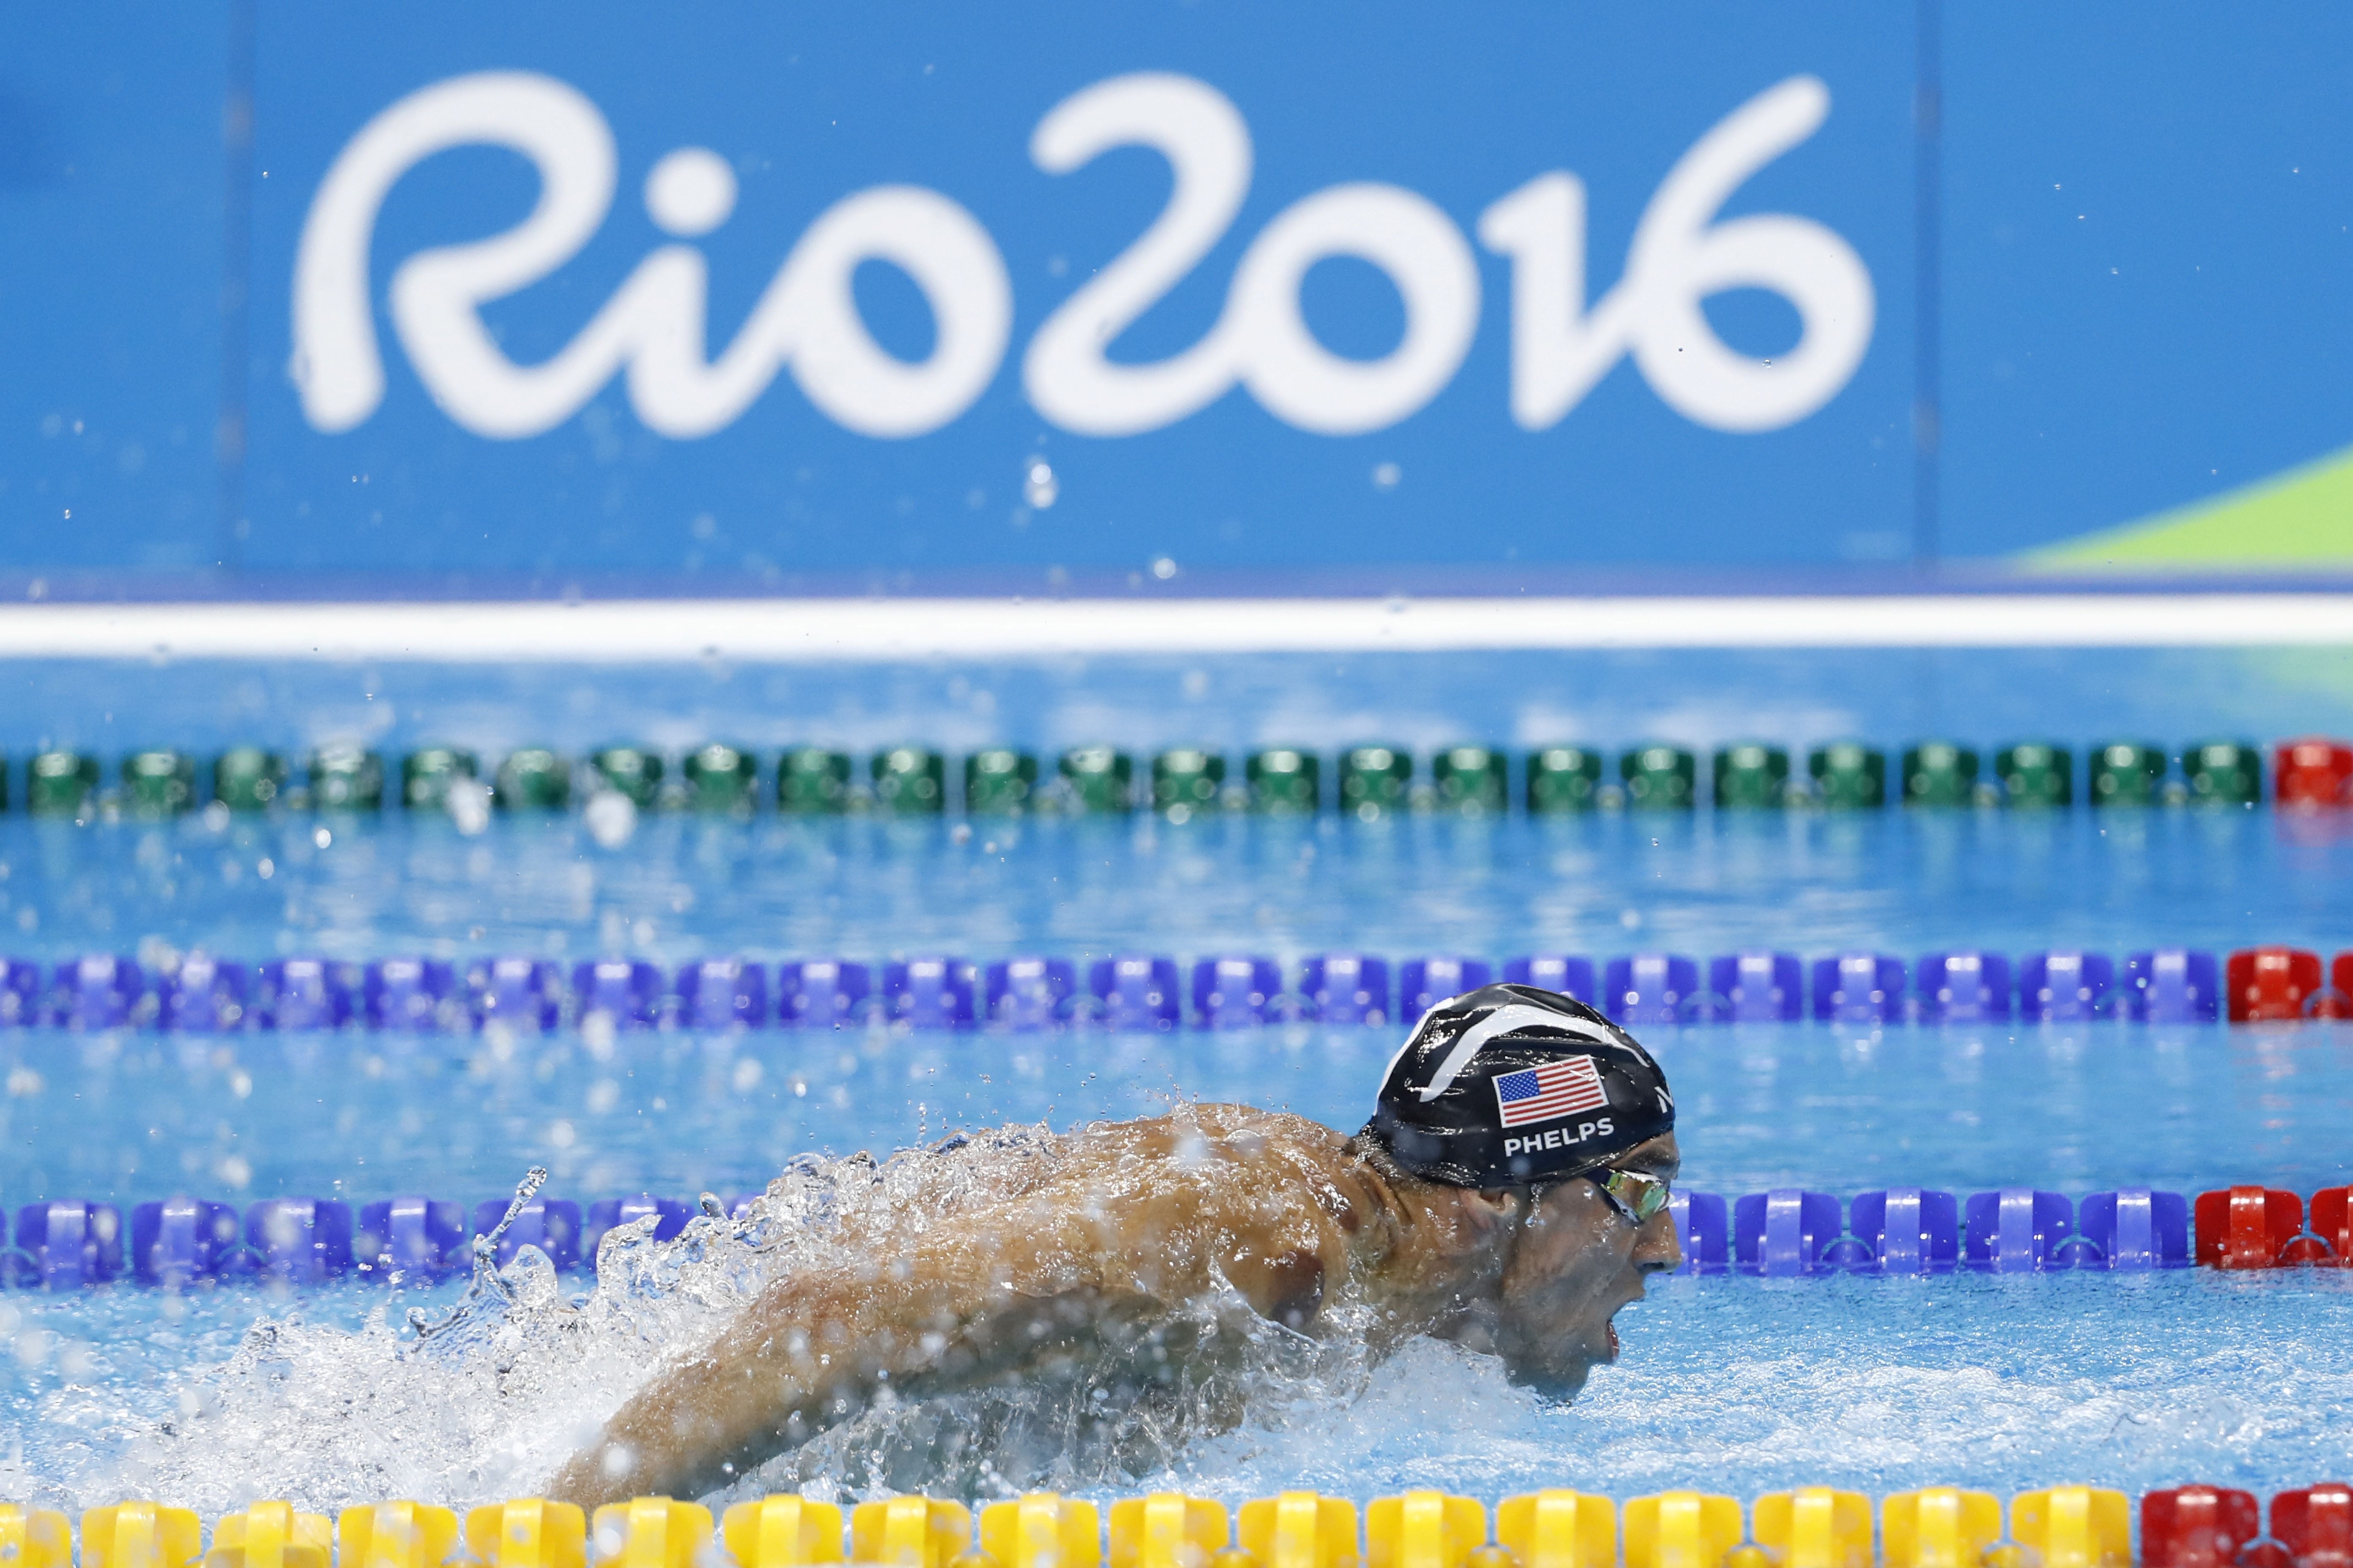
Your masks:
<instances>
[{"instance_id":1,"label":"swimmer's bare wet shoulder and outstretched arm, without the head","mask_svg":"<svg viewBox=\"0 0 2353 1568\"><path fill-rule=\"evenodd\" d=\"M593 1505L725 1486L882 1382L972 1387L1115 1319L1221 1286L1313 1333L1386 1229L1384 1190L1306 1117L1191 1105L1054 1140L1042 1173L856 1265L774 1279L551 1481Z\"/></svg>"}]
</instances>

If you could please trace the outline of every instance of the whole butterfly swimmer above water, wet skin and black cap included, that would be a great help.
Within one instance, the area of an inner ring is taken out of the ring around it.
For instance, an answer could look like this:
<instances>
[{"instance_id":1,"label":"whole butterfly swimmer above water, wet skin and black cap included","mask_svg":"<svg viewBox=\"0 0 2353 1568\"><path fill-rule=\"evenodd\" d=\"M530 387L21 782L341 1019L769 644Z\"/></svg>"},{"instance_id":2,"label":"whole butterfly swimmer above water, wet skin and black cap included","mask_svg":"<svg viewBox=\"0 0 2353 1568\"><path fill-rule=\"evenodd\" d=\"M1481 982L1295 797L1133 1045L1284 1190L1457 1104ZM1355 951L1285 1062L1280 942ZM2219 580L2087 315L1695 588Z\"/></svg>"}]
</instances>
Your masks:
<instances>
[{"instance_id":1,"label":"whole butterfly swimmer above water, wet skin and black cap included","mask_svg":"<svg viewBox=\"0 0 2353 1568\"><path fill-rule=\"evenodd\" d=\"M885 1385L941 1394L1165 1352L1155 1326L1228 1291L1306 1335L1362 1307L1374 1354L1438 1335L1569 1396L1617 1356L1619 1307L1682 1260L1673 1128L1633 1037L1567 997L1489 985L1421 1020L1355 1138L1245 1105L1096 1124L951 1234L847 1237L871 1269L772 1281L548 1495L708 1493Z\"/></svg>"}]
</instances>

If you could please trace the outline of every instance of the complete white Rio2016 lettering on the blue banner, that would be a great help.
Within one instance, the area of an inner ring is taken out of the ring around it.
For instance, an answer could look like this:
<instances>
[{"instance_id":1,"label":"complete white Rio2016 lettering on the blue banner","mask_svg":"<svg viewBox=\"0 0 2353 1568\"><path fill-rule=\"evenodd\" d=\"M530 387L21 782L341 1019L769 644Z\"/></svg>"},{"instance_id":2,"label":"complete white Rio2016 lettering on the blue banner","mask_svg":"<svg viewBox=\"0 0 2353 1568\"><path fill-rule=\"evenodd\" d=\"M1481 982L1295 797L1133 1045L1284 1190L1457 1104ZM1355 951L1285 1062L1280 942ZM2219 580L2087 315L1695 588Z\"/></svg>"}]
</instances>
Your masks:
<instances>
[{"instance_id":1,"label":"complete white Rio2016 lettering on the blue banner","mask_svg":"<svg viewBox=\"0 0 2353 1568\"><path fill-rule=\"evenodd\" d=\"M1668 172L1626 249L1619 282L1586 301L1586 188L1539 174L1480 214L1480 242L1511 261L1511 416L1555 425L1621 360L1685 418L1713 430L1779 430L1854 376L1871 346L1871 273L1835 233L1788 214L1718 221L1758 169L1812 136L1831 94L1788 78L1732 110ZM384 402L384 357L367 256L391 188L426 158L504 146L539 169L539 202L515 228L405 259L391 280L400 346L433 400L475 435L520 440L572 418L614 376L649 430L699 437L734 423L788 371L828 418L861 435L939 430L981 395L1012 339L1012 280L995 240L962 205L922 186L875 186L828 207L793 244L751 317L718 357L706 343L706 259L682 240L720 228L736 181L704 148L661 158L645 207L675 235L541 364L515 364L482 306L569 261L614 197L605 115L546 75L494 71L424 87L379 113L336 155L311 202L294 261L294 386L318 430L351 430ZM1226 235L1252 179L1249 127L1207 82L1136 73L1096 82L1045 115L1031 158L1049 174L1146 146L1174 190L1160 216L1073 292L1021 355L1035 409L1085 435L1176 423L1242 386L1301 430L1355 435L1428 404L1461 367L1480 315L1471 242L1428 197L1341 183L1299 197L1245 247L1209 331L1153 364L1106 348ZM1325 256L1362 259L1395 284L1405 331L1377 360L1325 348L1299 284ZM934 343L908 362L875 343L852 275L901 268L932 310ZM1734 353L1701 301L1767 289L1798 313L1798 346L1774 360Z\"/></svg>"}]
</instances>

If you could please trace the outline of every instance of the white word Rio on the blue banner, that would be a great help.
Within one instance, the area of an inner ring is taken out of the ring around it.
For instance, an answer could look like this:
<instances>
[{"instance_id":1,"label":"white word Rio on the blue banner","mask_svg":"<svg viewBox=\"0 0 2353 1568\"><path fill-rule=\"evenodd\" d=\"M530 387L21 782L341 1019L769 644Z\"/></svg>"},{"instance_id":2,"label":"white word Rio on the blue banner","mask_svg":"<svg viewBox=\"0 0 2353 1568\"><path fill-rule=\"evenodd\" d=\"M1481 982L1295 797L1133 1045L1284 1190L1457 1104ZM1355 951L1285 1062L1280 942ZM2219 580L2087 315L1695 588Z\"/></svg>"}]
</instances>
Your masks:
<instances>
[{"instance_id":1,"label":"white word Rio on the blue banner","mask_svg":"<svg viewBox=\"0 0 2353 1568\"><path fill-rule=\"evenodd\" d=\"M614 150L602 115L572 87L501 71L393 103L327 172L294 263L294 383L320 430L348 430L384 400L367 299L376 209L407 169L473 143L527 155L539 167L539 205L504 235L409 256L391 296L416 376L475 435L553 430L621 369L649 430L711 435L784 367L809 402L861 435L922 435L972 407L1005 357L1012 284L988 230L934 190L875 186L807 228L715 362L704 343L704 254L664 244L553 360L515 364L480 308L586 244L612 205ZM682 155L692 162L680 165ZM673 233L708 233L732 207L734 174L711 153L673 153L647 179L647 209ZM929 360L906 364L866 331L849 280L868 259L896 263L922 289L936 327Z\"/></svg>"}]
</instances>

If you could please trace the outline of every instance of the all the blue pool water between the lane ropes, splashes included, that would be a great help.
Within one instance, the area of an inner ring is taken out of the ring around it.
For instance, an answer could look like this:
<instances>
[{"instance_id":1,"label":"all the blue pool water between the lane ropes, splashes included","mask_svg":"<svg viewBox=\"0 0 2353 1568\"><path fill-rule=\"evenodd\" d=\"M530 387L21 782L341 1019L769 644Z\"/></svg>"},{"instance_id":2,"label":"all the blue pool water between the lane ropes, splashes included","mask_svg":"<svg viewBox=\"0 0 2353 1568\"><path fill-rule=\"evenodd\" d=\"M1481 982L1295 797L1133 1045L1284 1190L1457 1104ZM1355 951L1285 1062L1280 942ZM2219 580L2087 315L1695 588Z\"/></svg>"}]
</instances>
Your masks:
<instances>
[{"instance_id":1,"label":"all the blue pool water between the lane ropes, splashes included","mask_svg":"<svg viewBox=\"0 0 2353 1568\"><path fill-rule=\"evenodd\" d=\"M68 733L73 724L45 719L40 738L205 748L358 729L353 715L365 719L374 701L358 686L384 686L400 710L362 733L391 748L440 733L489 752L520 738L586 745L616 733L661 743L920 733L948 748L1113 733L1148 748L1179 738L1179 719L1184 738L1235 745L1367 733L1525 741L1548 724L1532 705L1574 712L1579 670L1539 670L1555 686L1504 701L1489 679L1499 668L1527 675L1511 661L1440 661L1414 665L1419 686L1400 677L1393 691L1353 691L1353 679L1315 684L1259 661L1212 672L1207 696L1181 712L1169 710L1186 691L1176 668L696 672L621 679L593 698L581 696L588 684L546 675L468 684L447 672L341 672L334 679L355 691L336 696L318 672L202 686L188 668L165 668L120 712L96 705L129 691L120 672L108 686L89 670L61 670L33 691L54 703L45 712L82 724ZM2207 729L2268 738L2327 729L2344 701L2334 665L2266 684L2221 658L2158 661L2139 675L2122 661L2078 658L2054 675L2019 658L2005 679L1944 670L1941 698L1922 696L1932 682L1918 668L1894 677L1859 663L1584 665L1595 670L1647 684L1600 691L1591 712L1602 717L1588 712L1584 733L1689 743L1755 729L1791 743L1849 729L1889 743L1925 729L2092 738L2111 724L2155 738ZM2167 682L2184 708L2177 722L2165 717ZM1219 708L1228 689L1257 696ZM976 712L976 693L991 691L995 708ZM2252 691L2259 712L2233 722L2233 691ZM664 703L682 715L668 729L652 717ZM762 717L746 717L762 703ZM2320 717L2292 722L2297 703ZM1965 712L1955 719L1939 705ZM1395 712L1421 717L1381 719ZM122 952L148 966L191 950L661 964L1141 950L1264 952L1285 966L1322 950L1706 959L1737 947L1805 957L1871 947L1911 961L1955 945L2120 957L2287 940L2334 952L2353 945L2348 860L2353 832L2337 820L2271 811L1184 827L647 816L605 839L579 816L494 818L473 835L400 813L87 827L0 818L0 952L40 961ZM2038 1185L2080 1197L2266 1180L2311 1192L2353 1175L2353 1030L2339 1025L1800 1023L1657 1030L1649 1041L1678 1088L1697 1190ZM12 1030L0 1034L0 1204L134 1204L169 1192L238 1204L428 1192L473 1204L508 1192L532 1164L548 1166L548 1192L579 1201L640 1190L732 1197L760 1190L798 1154L887 1157L960 1128L1068 1128L1186 1098L1353 1128L1395 1044L1395 1027L1320 1025L1146 1037ZM920 1182L929 1166L908 1154L892 1168ZM259 1495L334 1507L525 1490L664 1345L711 1333L748 1267L732 1232L699 1222L659 1258L633 1253L631 1272L602 1284L525 1272L513 1309L475 1314L426 1349L402 1328L405 1312L447 1309L461 1281L402 1293L360 1281L0 1291L0 1349L12 1352L0 1356L0 1495L89 1505L158 1493L219 1509ZM746 1486L986 1495L1167 1481L1226 1500L1280 1486L1494 1497L1539 1483L1753 1495L1800 1481L1878 1493L2202 1479L2271 1490L2339 1472L2353 1453L2344 1361L2353 1272L1675 1279L1657 1284L1621 1328L1621 1363L1569 1408L1511 1389L1489 1361L1445 1345L1374 1366L1341 1335L1313 1354L1257 1347L1233 1427L1151 1410L1082 1432L1056 1425L1038 1392L974 1396L861 1418ZM969 1441L948 1443L946 1432Z\"/></svg>"}]
</instances>

